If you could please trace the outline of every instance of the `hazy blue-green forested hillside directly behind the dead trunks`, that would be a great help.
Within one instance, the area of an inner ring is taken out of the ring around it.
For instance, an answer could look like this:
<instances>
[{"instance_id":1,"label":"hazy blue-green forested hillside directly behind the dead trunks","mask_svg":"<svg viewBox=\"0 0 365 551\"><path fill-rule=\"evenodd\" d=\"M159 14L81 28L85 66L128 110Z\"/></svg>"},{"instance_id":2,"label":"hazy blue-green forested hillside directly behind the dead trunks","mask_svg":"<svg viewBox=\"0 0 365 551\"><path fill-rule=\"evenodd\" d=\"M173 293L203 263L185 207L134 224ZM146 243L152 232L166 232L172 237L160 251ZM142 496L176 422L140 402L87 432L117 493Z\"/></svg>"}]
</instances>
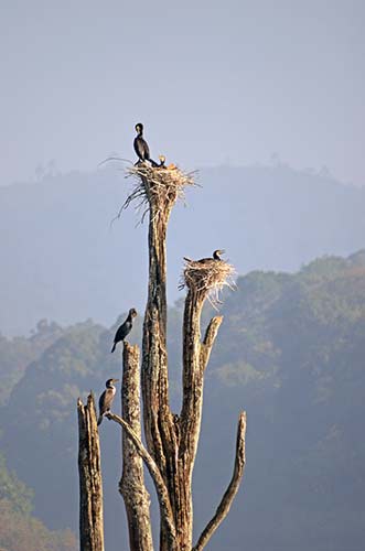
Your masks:
<instances>
[{"instance_id":1,"label":"hazy blue-green forested hillside directly behind the dead trunks","mask_svg":"<svg viewBox=\"0 0 365 551\"><path fill-rule=\"evenodd\" d=\"M237 551L245 541L247 549L262 551L361 551L365 251L320 258L293 274L255 271L239 277L237 290L224 295L222 313L195 469L196 532L230 477L237 411L245 408L245 479L208 549ZM175 410L181 315L180 303L170 309ZM138 321L131 342L140 338ZM120 353L109 353L116 325L107 329L88 321L64 329L47 326L54 338L35 356L30 347L31 364L1 410L8 464L34 489L35 514L53 529L77 529L75 404L78 396L85 398L90 389L99 393L108 377L118 377ZM0 374L9 379L18 367L7 365ZM119 407L116 400L117 411ZM107 549L119 551L127 536L117 491L119 432L105 421L100 434Z\"/></svg>"}]
</instances>

